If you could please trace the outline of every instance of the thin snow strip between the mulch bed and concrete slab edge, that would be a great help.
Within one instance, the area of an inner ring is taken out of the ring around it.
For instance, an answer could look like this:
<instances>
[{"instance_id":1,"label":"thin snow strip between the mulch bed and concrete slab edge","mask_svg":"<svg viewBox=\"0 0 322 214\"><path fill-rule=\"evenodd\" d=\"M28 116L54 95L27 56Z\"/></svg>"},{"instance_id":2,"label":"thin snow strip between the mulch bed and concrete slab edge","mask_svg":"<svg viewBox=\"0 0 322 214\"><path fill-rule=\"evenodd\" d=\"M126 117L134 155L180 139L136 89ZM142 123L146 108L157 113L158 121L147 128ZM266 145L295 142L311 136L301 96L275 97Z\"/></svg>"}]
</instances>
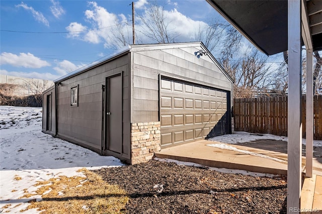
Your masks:
<instances>
[{"instance_id":1,"label":"thin snow strip between the mulch bed and concrete slab edge","mask_svg":"<svg viewBox=\"0 0 322 214\"><path fill-rule=\"evenodd\" d=\"M204 165L197 164L197 163L178 161L178 160L173 160L173 159L169 159L169 158L154 158L154 160L163 161L163 162L173 162L178 165L184 165L184 166L205 167L205 168L208 168L208 169L216 171L216 172L250 175L253 177L278 177L278 176L280 176L280 175L274 175L274 174L269 174L269 173L250 172L250 171L240 170L240 169L226 169L226 168L208 167L208 166L204 166Z\"/></svg>"}]
</instances>

